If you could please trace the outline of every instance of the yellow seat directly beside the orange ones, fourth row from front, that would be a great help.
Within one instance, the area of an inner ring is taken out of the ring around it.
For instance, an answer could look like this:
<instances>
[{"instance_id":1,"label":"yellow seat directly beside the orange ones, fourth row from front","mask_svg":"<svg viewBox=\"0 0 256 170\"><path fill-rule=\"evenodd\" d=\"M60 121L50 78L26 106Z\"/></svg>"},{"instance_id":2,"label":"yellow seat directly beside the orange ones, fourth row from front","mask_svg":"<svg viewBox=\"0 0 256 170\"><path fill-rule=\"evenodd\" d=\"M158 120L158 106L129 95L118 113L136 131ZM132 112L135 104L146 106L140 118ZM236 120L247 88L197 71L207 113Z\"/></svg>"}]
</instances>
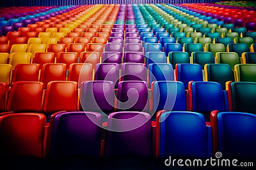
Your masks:
<instances>
[{"instance_id":1,"label":"yellow seat directly beside the orange ones, fourth row from front","mask_svg":"<svg viewBox=\"0 0 256 170\"><path fill-rule=\"evenodd\" d=\"M32 53L30 52L15 52L10 54L9 64L12 65L12 69L15 69L17 64L30 64Z\"/></svg>"}]
</instances>

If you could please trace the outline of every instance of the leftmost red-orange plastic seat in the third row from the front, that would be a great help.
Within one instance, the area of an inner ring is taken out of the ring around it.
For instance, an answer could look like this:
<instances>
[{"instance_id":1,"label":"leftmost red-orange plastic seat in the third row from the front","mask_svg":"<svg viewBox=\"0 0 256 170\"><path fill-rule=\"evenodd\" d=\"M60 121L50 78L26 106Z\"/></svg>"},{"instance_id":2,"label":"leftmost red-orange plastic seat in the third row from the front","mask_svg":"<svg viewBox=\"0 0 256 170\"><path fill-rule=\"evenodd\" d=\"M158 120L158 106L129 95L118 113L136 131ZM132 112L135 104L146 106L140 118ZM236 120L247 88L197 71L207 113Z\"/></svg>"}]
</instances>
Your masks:
<instances>
[{"instance_id":1,"label":"leftmost red-orange plastic seat in the third row from the front","mask_svg":"<svg viewBox=\"0 0 256 170\"><path fill-rule=\"evenodd\" d=\"M39 64L17 64L12 73L12 83L15 81L38 81Z\"/></svg>"}]
</instances>

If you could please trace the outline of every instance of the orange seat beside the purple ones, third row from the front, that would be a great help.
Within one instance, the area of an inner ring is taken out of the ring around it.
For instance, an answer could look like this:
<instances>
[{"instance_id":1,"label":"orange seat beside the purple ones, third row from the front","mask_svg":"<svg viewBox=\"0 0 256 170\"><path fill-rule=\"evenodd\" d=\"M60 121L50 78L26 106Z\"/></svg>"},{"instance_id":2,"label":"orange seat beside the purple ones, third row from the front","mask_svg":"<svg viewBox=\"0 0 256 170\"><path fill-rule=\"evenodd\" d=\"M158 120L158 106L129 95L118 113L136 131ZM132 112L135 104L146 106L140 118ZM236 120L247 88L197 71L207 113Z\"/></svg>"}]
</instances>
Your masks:
<instances>
[{"instance_id":1,"label":"orange seat beside the purple ones, third row from the front","mask_svg":"<svg viewBox=\"0 0 256 170\"><path fill-rule=\"evenodd\" d=\"M81 85L83 81L92 81L93 68L90 63L74 63L70 64L68 81L76 81Z\"/></svg>"}]
</instances>

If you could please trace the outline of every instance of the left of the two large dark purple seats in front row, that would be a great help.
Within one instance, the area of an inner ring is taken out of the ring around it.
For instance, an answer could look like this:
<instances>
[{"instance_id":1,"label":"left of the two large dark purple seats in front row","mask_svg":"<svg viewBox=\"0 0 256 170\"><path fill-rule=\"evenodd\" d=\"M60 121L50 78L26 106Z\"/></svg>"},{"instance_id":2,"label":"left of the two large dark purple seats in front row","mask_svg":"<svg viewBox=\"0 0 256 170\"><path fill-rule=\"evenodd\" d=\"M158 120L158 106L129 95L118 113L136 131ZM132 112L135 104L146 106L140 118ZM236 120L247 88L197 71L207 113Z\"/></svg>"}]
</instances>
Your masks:
<instances>
[{"instance_id":1,"label":"left of the two large dark purple seats in front row","mask_svg":"<svg viewBox=\"0 0 256 170\"><path fill-rule=\"evenodd\" d=\"M51 118L50 157L100 157L99 113L63 112Z\"/></svg>"}]
</instances>

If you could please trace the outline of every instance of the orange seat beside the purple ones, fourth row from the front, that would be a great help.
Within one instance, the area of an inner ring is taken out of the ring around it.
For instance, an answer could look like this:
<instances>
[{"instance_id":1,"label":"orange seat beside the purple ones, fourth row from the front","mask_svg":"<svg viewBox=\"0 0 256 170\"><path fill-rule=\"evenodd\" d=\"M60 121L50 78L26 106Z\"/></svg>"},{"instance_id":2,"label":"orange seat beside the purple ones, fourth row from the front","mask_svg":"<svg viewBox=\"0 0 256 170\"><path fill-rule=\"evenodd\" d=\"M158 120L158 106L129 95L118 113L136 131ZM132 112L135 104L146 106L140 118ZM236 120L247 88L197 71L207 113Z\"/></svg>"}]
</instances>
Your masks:
<instances>
[{"instance_id":1,"label":"orange seat beside the purple ones, fourth row from the front","mask_svg":"<svg viewBox=\"0 0 256 170\"><path fill-rule=\"evenodd\" d=\"M92 68L96 69L96 64L100 62L99 52L83 52L80 55L80 63L90 63Z\"/></svg>"}]
</instances>

